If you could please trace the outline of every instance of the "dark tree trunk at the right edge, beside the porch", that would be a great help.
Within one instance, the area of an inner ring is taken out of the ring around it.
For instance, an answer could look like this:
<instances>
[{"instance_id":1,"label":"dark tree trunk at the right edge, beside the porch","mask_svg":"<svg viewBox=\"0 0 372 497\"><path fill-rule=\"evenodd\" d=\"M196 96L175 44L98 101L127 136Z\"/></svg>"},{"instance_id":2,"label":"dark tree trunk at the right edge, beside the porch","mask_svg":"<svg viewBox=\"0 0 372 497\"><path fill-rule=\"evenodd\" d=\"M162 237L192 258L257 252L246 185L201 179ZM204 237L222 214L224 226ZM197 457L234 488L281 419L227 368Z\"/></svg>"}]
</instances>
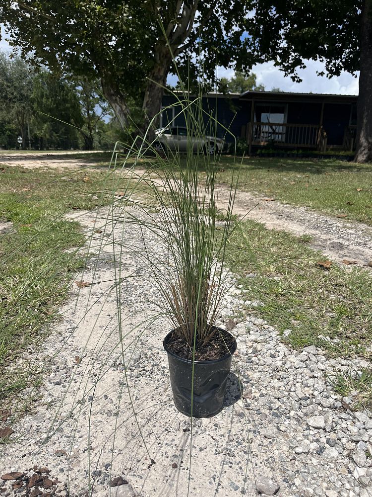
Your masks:
<instances>
[{"instance_id":1,"label":"dark tree trunk at the right edge, beside the porch","mask_svg":"<svg viewBox=\"0 0 372 497\"><path fill-rule=\"evenodd\" d=\"M361 13L360 76L355 162L372 162L372 0L364 0Z\"/></svg>"}]
</instances>

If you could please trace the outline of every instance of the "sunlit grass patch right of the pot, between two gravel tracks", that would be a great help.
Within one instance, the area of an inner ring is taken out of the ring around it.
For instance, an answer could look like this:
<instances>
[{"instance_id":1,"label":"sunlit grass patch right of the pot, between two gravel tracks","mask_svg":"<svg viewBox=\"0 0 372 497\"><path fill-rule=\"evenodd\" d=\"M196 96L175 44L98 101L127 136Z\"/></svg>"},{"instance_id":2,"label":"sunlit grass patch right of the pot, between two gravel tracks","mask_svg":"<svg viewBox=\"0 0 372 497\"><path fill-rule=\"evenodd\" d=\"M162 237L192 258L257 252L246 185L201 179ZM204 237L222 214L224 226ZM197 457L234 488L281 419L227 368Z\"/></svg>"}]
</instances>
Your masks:
<instances>
[{"instance_id":1,"label":"sunlit grass patch right of the pot, between two gravel tracks","mask_svg":"<svg viewBox=\"0 0 372 497\"><path fill-rule=\"evenodd\" d=\"M338 356L371 358L371 273L336 263L325 270L317 265L322 260L304 239L253 221L237 226L227 256L249 299L262 302L249 312L281 332L291 330L283 339L294 348L317 345Z\"/></svg>"}]
</instances>

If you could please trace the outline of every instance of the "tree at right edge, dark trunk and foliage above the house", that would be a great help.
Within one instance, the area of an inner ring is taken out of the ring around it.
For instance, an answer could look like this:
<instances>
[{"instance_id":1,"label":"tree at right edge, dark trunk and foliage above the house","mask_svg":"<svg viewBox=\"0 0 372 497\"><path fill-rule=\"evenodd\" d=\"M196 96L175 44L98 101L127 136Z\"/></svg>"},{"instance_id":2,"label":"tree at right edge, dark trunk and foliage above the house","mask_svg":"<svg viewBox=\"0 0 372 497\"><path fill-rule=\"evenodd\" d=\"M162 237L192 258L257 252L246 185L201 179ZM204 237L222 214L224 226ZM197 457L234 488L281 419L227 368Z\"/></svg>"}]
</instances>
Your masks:
<instances>
[{"instance_id":1,"label":"tree at right edge, dark trunk and foliage above the house","mask_svg":"<svg viewBox=\"0 0 372 497\"><path fill-rule=\"evenodd\" d=\"M360 71L356 161L372 161L372 0L252 0L251 7L252 54L295 81L307 59L324 62L328 77Z\"/></svg>"}]
</instances>

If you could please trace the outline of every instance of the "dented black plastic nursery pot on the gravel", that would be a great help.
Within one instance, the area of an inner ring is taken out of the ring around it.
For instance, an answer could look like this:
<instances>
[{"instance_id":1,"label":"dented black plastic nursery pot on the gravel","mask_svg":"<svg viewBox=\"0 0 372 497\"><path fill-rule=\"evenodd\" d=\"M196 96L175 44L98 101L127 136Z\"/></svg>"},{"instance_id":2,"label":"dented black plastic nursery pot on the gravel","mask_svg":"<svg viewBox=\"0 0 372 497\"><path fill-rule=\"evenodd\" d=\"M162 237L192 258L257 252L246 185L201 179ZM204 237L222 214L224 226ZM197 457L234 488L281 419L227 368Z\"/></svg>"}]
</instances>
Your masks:
<instances>
[{"instance_id":1,"label":"dented black plastic nursery pot on the gravel","mask_svg":"<svg viewBox=\"0 0 372 497\"><path fill-rule=\"evenodd\" d=\"M167 334L163 345L168 353L173 400L181 413L191 416L192 360L184 359L168 348L168 340L172 333L173 331L170 331ZM206 417L222 409L232 356L236 348L237 342L234 339L230 352L220 359L194 361L193 416Z\"/></svg>"}]
</instances>

